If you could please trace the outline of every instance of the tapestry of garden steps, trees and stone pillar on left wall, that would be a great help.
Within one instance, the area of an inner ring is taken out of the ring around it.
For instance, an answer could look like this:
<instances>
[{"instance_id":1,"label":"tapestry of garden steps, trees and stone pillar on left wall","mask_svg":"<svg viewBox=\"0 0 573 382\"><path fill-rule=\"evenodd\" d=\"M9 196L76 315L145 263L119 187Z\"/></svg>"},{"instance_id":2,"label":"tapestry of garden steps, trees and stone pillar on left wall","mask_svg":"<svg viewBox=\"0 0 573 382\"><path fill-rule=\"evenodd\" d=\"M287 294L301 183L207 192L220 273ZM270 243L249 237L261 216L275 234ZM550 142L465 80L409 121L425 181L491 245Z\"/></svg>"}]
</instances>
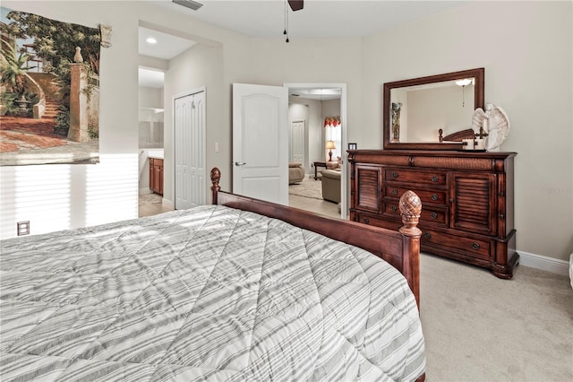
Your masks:
<instances>
[{"instance_id":1,"label":"tapestry of garden steps, trees and stone pillar on left wall","mask_svg":"<svg viewBox=\"0 0 573 382\"><path fill-rule=\"evenodd\" d=\"M97 163L100 30L0 13L0 165Z\"/></svg>"}]
</instances>

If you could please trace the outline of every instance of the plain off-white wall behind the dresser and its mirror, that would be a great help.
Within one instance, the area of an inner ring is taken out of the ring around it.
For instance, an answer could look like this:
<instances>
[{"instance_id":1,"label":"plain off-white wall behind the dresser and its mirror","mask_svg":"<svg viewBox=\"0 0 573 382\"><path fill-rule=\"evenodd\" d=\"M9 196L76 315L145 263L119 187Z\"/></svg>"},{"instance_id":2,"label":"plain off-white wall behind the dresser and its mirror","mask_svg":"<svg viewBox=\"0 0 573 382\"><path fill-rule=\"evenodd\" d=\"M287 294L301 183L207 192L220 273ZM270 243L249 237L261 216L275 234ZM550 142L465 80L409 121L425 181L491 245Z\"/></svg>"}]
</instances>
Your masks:
<instances>
[{"instance_id":1,"label":"plain off-white wall behind the dresser and its mirror","mask_svg":"<svg viewBox=\"0 0 573 382\"><path fill-rule=\"evenodd\" d=\"M384 82L485 68L485 101L505 109L515 159L517 249L573 251L571 2L472 2L363 40L363 128L381 147Z\"/></svg>"}]
</instances>

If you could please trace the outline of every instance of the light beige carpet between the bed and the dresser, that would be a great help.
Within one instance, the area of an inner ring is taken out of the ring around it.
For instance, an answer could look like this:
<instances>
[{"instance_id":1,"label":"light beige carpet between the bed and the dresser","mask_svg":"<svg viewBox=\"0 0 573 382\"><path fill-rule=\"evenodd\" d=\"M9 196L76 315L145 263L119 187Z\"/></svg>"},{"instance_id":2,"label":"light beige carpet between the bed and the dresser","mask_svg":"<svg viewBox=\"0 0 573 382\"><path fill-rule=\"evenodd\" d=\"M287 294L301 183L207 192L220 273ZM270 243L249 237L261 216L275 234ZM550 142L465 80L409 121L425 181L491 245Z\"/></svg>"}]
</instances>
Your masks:
<instances>
[{"instance_id":1,"label":"light beige carpet between the bed and the dresser","mask_svg":"<svg viewBox=\"0 0 573 382\"><path fill-rule=\"evenodd\" d=\"M573 381L569 277L517 266L511 280L421 256L426 381Z\"/></svg>"}]
</instances>

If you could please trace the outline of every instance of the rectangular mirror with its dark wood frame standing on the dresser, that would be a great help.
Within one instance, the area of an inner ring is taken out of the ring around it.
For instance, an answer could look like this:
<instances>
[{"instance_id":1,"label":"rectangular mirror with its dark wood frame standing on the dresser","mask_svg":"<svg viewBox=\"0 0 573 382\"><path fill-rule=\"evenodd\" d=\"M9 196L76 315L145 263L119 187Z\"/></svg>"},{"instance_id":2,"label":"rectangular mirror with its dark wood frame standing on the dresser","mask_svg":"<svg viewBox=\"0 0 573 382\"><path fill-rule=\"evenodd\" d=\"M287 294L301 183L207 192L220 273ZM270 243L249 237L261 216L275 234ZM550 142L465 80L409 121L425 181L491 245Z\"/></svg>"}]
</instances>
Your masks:
<instances>
[{"instance_id":1,"label":"rectangular mirror with its dark wood frame standing on the dresser","mask_svg":"<svg viewBox=\"0 0 573 382\"><path fill-rule=\"evenodd\" d=\"M385 150L461 150L443 136L472 127L484 105L484 68L384 83Z\"/></svg>"}]
</instances>

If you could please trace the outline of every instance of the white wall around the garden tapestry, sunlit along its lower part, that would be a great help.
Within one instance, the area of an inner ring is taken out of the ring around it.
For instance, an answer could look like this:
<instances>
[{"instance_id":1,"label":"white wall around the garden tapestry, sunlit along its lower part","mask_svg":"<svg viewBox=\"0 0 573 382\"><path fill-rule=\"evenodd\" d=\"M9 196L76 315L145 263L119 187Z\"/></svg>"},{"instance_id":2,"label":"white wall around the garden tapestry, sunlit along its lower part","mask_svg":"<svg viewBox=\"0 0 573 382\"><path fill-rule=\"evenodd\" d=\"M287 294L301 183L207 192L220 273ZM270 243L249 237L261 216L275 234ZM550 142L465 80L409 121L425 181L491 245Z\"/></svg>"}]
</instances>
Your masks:
<instances>
[{"instance_id":1,"label":"white wall around the garden tapestry, sunlit along its lower part","mask_svg":"<svg viewBox=\"0 0 573 382\"><path fill-rule=\"evenodd\" d=\"M137 19L130 5L115 4L115 12L98 2L2 5L93 28L113 25L114 45L100 57L100 163L0 167L0 237L15 236L16 221L30 221L36 234L137 217Z\"/></svg>"}]
</instances>

